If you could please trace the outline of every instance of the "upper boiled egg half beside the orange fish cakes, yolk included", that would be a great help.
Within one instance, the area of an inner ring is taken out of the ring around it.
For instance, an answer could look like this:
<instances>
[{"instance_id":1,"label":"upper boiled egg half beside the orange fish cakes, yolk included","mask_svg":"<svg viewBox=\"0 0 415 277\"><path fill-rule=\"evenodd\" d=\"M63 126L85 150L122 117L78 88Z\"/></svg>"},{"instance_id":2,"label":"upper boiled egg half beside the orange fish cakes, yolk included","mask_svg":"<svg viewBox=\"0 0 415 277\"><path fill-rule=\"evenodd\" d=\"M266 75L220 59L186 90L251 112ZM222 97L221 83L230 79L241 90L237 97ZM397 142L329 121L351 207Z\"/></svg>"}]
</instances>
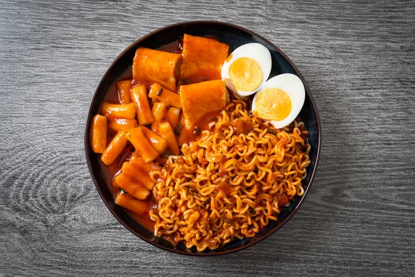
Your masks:
<instances>
[{"instance_id":1,"label":"upper boiled egg half beside the orange fish cakes, yolk included","mask_svg":"<svg viewBox=\"0 0 415 277\"><path fill-rule=\"evenodd\" d=\"M265 84L271 66L271 54L264 45L243 44L223 62L222 79L238 96L250 96Z\"/></svg>"}]
</instances>

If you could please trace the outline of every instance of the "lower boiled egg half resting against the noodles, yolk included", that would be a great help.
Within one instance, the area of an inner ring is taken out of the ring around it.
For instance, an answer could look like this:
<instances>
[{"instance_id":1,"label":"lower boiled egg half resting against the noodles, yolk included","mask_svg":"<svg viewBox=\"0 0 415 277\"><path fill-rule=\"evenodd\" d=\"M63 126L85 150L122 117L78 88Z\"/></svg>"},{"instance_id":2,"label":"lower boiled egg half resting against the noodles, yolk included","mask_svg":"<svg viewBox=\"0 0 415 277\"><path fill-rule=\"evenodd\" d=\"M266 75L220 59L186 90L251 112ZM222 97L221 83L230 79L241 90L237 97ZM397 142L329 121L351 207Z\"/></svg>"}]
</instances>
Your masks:
<instances>
[{"instance_id":1,"label":"lower boiled egg half resting against the noodles, yolk included","mask_svg":"<svg viewBox=\"0 0 415 277\"><path fill-rule=\"evenodd\" d=\"M304 84L291 73L270 78L252 100L252 114L279 129L289 125L304 105Z\"/></svg>"}]
</instances>

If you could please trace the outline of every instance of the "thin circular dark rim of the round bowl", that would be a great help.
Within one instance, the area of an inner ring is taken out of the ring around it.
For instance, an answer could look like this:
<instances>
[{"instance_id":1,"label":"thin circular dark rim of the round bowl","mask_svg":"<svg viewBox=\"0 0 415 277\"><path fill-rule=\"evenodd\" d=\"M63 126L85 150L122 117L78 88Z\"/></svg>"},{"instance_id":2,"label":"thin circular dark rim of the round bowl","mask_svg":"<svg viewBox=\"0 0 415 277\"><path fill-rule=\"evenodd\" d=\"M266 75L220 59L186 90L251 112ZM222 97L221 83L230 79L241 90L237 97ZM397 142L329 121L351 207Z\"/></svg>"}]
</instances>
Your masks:
<instances>
[{"instance_id":1,"label":"thin circular dark rim of the round bowl","mask_svg":"<svg viewBox=\"0 0 415 277\"><path fill-rule=\"evenodd\" d=\"M153 240L149 240L149 239L145 238L144 236L142 236L140 233L138 233L133 228L131 228L131 226L129 226L129 224L127 224L127 222L124 222L124 220L122 220L122 218L120 218L120 216L115 211L113 211L113 207L110 205L110 203L107 201L107 199L105 199L105 197L102 193L102 189L98 185L98 181L95 178L95 176L93 175L91 160L89 159L89 152L91 152L91 149L89 147L89 117L91 116L92 102L98 96L98 93L100 91L100 87L102 86L102 83L104 82L104 77L108 75L109 71L112 69L114 64L116 64L116 62L118 62L118 60L120 60L120 58L125 53L130 51L131 48L136 47L137 44L140 44L140 42L147 39L147 37L151 37L152 35L155 35L156 33L167 30L169 28L175 28L175 27L183 26L183 25L196 25L196 24L213 24L213 25L219 25L219 26L226 26L226 27L229 27L229 28L236 28L236 29L241 30L243 32L246 32L246 33L248 33L248 34L250 34L254 37L262 39L264 42L270 44L270 46L272 46L274 48L274 50L277 51L277 53L282 55L284 60L286 60L286 62L288 62L288 64L290 64L293 67L293 69L294 69L295 73L297 74L297 76L302 80L302 82L304 84L304 89L305 89L308 97L310 98L311 105L313 106L313 109L314 109L314 112L315 112L316 123L317 123L317 136L318 136L318 138L317 138L317 153L316 153L316 156L315 156L315 165L314 165L313 171L311 172L311 177L310 177L310 181L308 182L308 186L304 190L304 195L302 195L302 197L299 199L297 206L295 206L293 208L291 213L284 220L282 220L282 222L280 222L277 226L275 226L274 229L271 229L268 233L265 233L264 235L257 238L256 240L251 240L249 243L244 244L240 247L236 247L234 249L227 249L227 250L221 251L221 252L205 252L205 251L202 251L202 252L194 253L194 252L187 252L187 251L183 251L183 250L179 250L179 249L172 249L172 248L166 247L163 244L158 244L158 243L154 242ZM151 33L148 33L147 35L145 35L143 37L140 37L140 39L137 39L135 42L133 42L127 48L125 48L124 51L122 51L122 53L120 53L120 55L118 55L116 57L116 59L114 59L113 62L111 62L111 64L109 65L107 71L105 71L104 75L102 76L102 78L100 80L100 83L96 87L95 93L93 94L93 97L91 98L91 105L89 106L88 115L86 116L86 123L85 123L85 129L84 129L84 150L85 150L85 158L86 158L86 163L88 165L89 173L90 173L90 175L93 179L93 183L95 184L95 189L98 191L98 194L100 195L100 197L102 199L102 202L104 202L105 206L107 206L107 208L109 209L111 214L114 217L116 217L116 219L118 220L118 222L120 222L122 224L122 226L127 228L131 233L136 235L138 238L144 240L145 242L148 242L151 245L154 245L155 247L158 247L159 249L163 249L163 250L166 250L166 251L169 251L169 252L172 252L172 253L178 253L178 254L181 254L181 255L184 255L184 256L220 256L220 255L224 255L224 254L228 254L228 253L234 253L234 252L240 251L242 249L246 249L248 247L251 247L252 245L255 245L255 244L265 240L266 238L270 237L270 235L273 235L277 230L282 228L282 226L284 226L284 224L286 224L286 222L288 222L288 220L291 220L291 217L293 217L293 215L295 213L297 213L297 210L298 210L299 206L301 206L302 202L304 202L304 199L306 198L308 190L310 190L311 185L313 184L315 174L317 172L318 161L320 159L321 144L322 144L321 125L320 125L320 118L319 118L319 115L318 115L317 107L315 106L314 98L311 95L311 91L308 88L308 85L307 85L306 81L304 80L304 77L302 76L302 74L297 69L297 66L295 66L295 64L290 60L290 58L287 57L287 55L284 52L282 52L277 46L275 46L268 39L265 39L261 35L258 35L257 33L252 32L251 30L248 30L248 29L243 28L241 26L237 26L237 25L230 24L230 23L223 22L223 21L214 21L214 20L183 21L183 22L179 22L179 23L176 23L176 24L171 24L171 25L168 25L168 26L164 26L162 28L158 28L158 29L152 31Z\"/></svg>"}]
</instances>

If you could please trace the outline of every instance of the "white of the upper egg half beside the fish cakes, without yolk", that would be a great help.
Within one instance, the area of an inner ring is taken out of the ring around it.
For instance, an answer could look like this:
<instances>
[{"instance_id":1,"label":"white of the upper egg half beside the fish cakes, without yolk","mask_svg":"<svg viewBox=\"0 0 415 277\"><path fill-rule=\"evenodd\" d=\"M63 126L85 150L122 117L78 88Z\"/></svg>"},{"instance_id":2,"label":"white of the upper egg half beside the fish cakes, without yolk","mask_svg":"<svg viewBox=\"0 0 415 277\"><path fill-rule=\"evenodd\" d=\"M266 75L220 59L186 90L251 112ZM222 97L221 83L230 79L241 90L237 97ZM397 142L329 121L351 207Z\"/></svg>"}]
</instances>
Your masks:
<instances>
[{"instance_id":1,"label":"white of the upper egg half beside the fish cakes, without yolk","mask_svg":"<svg viewBox=\"0 0 415 277\"><path fill-rule=\"evenodd\" d=\"M263 84L265 84L266 80L268 79L270 72L271 72L271 54L268 48L266 48L262 44L258 43L250 43L250 44L243 44L239 46L232 52L232 58L229 61L225 61L222 66L222 80L225 81L226 86L236 93L238 96L246 97L250 96L251 94L258 91ZM255 60L259 64L261 68L263 79L259 87L253 91L239 91L234 84L230 81L229 76L229 67L234 62L234 60L239 59L239 57L249 57L252 60Z\"/></svg>"}]
</instances>

